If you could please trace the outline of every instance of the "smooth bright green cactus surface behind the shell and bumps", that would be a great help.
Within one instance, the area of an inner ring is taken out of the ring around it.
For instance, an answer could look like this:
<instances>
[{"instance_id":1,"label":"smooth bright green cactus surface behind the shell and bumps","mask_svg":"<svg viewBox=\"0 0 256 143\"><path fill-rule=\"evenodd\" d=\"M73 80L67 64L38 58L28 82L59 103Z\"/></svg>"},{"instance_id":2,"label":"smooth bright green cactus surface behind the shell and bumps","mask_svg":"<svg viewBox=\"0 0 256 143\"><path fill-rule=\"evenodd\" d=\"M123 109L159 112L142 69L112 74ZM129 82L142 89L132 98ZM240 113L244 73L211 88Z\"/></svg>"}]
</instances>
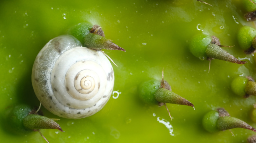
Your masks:
<instances>
[{"instance_id":1,"label":"smooth bright green cactus surface behind the shell and bumps","mask_svg":"<svg viewBox=\"0 0 256 143\"><path fill-rule=\"evenodd\" d=\"M99 24L108 39L127 52L105 52L119 67L115 71L117 99L85 119L58 121L65 132L41 130L50 142L246 142L255 134L245 129L207 133L201 124L203 115L224 107L231 116L253 127L249 113L255 97L235 96L230 83L239 75L256 78L252 55L239 48L236 34L243 25L254 26L243 18L243 0L98 0L98 1L32 1L0 2L0 138L4 142L42 142L37 133L13 135L4 128L3 114L17 103L39 105L31 84L33 61L40 49L54 37L65 34L72 25L88 21ZM198 27L197 27L198 25ZM217 36L224 48L245 65L220 60L201 61L188 50L195 34ZM138 98L137 87L147 79L164 78L174 92L195 105L168 104L173 120L164 107L146 105ZM115 94L116 96L116 94ZM42 108L45 116L59 118ZM173 132L163 123L169 122Z\"/></svg>"}]
</instances>

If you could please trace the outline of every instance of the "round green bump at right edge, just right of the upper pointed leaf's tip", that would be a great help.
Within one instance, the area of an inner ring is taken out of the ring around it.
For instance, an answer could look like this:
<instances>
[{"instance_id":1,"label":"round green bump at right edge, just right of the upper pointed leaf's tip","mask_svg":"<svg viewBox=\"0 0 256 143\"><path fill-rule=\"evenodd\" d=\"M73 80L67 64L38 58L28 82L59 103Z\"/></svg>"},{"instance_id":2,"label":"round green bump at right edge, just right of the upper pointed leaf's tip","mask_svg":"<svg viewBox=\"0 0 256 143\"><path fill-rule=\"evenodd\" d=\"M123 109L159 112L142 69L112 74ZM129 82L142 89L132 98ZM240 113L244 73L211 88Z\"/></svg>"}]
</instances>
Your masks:
<instances>
[{"instance_id":1,"label":"round green bump at right edge, just right of the upper pointed leaf's tip","mask_svg":"<svg viewBox=\"0 0 256 143\"><path fill-rule=\"evenodd\" d=\"M250 26L243 26L238 31L237 40L245 54L253 54L256 52L256 29Z\"/></svg>"}]
</instances>

